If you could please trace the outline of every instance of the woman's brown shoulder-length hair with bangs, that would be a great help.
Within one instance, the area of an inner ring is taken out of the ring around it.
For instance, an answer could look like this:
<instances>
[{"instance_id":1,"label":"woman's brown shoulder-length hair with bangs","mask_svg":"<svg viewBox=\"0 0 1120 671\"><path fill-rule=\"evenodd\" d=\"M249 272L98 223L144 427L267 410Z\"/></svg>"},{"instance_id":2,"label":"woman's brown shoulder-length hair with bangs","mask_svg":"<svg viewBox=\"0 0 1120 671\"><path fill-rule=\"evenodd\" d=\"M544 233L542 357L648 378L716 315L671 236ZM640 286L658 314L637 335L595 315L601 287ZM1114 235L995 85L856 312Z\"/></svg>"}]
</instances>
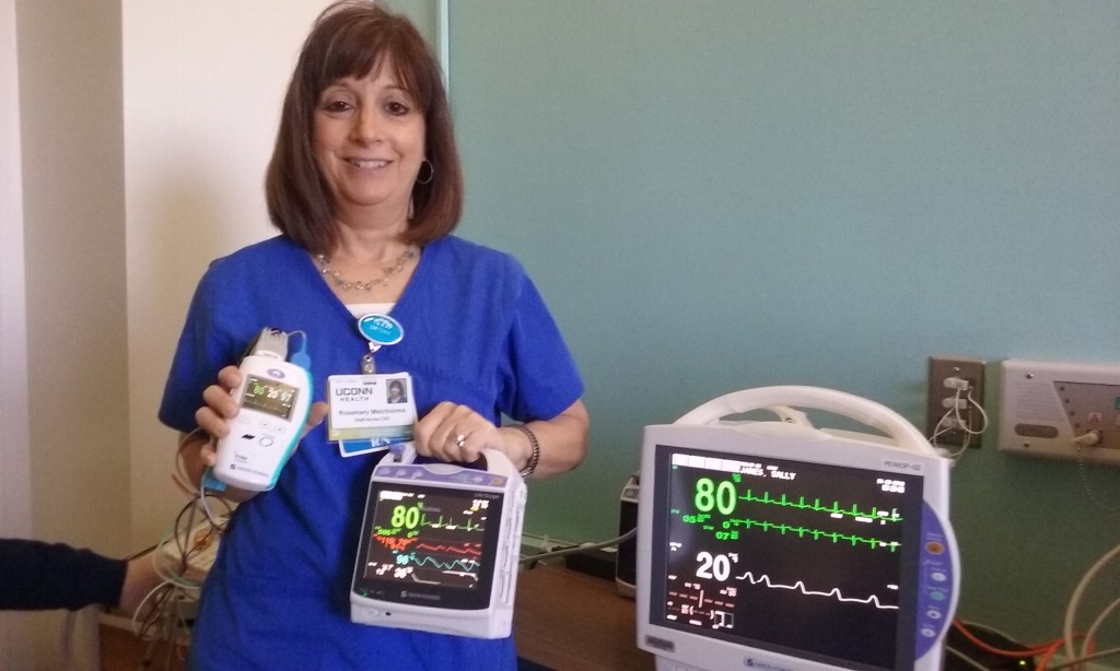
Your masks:
<instances>
[{"instance_id":1,"label":"woman's brown shoulder-length hair with bangs","mask_svg":"<svg viewBox=\"0 0 1120 671\"><path fill-rule=\"evenodd\" d=\"M423 245L442 237L463 214L463 170L439 64L407 18L372 0L343 0L319 15L304 42L264 180L272 224L310 252L329 253L338 236L334 195L312 147L319 95L340 78L364 77L388 63L424 116L431 163L431 180L412 186L407 242ZM427 173L421 167L420 177Z\"/></svg>"}]
</instances>

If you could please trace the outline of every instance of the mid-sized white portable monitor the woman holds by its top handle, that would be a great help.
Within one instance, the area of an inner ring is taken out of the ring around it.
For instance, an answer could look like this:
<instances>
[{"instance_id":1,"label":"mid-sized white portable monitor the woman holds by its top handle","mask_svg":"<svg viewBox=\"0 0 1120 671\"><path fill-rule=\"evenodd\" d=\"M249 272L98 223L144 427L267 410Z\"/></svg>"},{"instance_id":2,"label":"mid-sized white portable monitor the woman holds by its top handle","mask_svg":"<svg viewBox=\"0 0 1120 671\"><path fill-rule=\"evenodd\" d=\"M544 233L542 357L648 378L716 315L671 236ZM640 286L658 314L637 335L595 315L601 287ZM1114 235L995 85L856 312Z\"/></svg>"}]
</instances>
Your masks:
<instances>
[{"instance_id":1,"label":"mid-sized white portable monitor the woman holds by its top handle","mask_svg":"<svg viewBox=\"0 0 1120 671\"><path fill-rule=\"evenodd\" d=\"M500 452L485 470L416 463L411 444L370 476L351 620L503 639L513 627L525 483Z\"/></svg>"}]
</instances>

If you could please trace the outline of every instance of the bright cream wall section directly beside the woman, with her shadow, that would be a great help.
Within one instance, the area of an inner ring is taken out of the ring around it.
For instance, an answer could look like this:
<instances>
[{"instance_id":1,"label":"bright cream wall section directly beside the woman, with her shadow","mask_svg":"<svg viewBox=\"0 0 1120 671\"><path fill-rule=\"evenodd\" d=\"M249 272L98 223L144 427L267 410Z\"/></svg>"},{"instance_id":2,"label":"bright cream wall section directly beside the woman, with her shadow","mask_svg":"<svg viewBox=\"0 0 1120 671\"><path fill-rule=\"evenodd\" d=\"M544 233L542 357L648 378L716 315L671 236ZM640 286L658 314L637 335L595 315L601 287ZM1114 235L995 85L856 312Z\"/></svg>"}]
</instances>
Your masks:
<instances>
[{"instance_id":1,"label":"bright cream wall section directly beside the woman, with her shadow","mask_svg":"<svg viewBox=\"0 0 1120 671\"><path fill-rule=\"evenodd\" d=\"M264 206L284 88L320 0L124 0L133 545L186 502L156 417L187 305L215 257L276 235ZM200 400L200 399L199 399Z\"/></svg>"}]
</instances>

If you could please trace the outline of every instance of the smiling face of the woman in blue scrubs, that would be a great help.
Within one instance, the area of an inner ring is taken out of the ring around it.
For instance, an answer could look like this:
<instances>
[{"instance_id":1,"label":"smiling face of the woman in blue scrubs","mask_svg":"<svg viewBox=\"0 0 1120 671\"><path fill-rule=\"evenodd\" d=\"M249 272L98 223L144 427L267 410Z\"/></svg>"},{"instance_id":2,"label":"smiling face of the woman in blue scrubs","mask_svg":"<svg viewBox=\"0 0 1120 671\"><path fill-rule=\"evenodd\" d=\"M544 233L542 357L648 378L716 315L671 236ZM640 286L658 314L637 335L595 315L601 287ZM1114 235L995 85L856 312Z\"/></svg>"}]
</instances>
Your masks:
<instances>
[{"instance_id":1,"label":"smiling face of the woman in blue scrubs","mask_svg":"<svg viewBox=\"0 0 1120 671\"><path fill-rule=\"evenodd\" d=\"M392 73L392 64L382 63L365 77L338 79L316 106L316 162L344 223L408 219L424 158L424 117Z\"/></svg>"}]
</instances>

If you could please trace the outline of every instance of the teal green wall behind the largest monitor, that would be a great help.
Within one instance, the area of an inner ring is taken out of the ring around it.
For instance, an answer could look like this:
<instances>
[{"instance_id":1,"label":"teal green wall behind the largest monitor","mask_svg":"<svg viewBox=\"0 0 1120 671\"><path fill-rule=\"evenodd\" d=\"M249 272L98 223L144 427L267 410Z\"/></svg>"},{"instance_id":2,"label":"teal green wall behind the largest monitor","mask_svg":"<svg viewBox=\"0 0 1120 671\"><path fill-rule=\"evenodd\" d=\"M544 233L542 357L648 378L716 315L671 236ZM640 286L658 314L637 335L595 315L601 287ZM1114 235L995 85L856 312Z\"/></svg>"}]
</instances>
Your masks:
<instances>
[{"instance_id":1,"label":"teal green wall behind the largest monitor","mask_svg":"<svg viewBox=\"0 0 1120 671\"><path fill-rule=\"evenodd\" d=\"M729 391L924 427L930 355L987 359L993 415L1000 359L1120 361L1120 3L472 0L450 26L460 233L529 268L592 416L528 531L613 536L642 427ZM1054 636L1120 512L995 438L953 472L960 614ZM1084 478L1120 507L1117 470Z\"/></svg>"}]
</instances>

